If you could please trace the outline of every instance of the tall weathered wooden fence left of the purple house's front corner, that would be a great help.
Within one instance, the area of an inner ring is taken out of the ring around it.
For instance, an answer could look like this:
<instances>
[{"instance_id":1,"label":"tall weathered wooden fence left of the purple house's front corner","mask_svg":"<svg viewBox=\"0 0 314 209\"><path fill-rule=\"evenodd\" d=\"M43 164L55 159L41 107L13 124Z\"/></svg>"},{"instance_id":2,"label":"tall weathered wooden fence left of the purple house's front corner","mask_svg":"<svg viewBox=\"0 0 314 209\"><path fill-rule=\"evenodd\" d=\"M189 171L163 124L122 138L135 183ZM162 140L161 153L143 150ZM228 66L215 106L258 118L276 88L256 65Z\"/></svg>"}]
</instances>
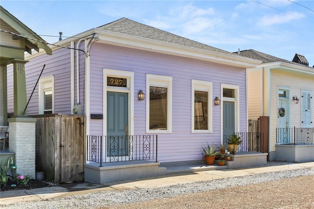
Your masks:
<instances>
[{"instance_id":1,"label":"tall weathered wooden fence left of the purple house's front corner","mask_svg":"<svg viewBox=\"0 0 314 209\"><path fill-rule=\"evenodd\" d=\"M84 118L82 115L35 115L36 171L54 183L84 180Z\"/></svg>"}]
</instances>

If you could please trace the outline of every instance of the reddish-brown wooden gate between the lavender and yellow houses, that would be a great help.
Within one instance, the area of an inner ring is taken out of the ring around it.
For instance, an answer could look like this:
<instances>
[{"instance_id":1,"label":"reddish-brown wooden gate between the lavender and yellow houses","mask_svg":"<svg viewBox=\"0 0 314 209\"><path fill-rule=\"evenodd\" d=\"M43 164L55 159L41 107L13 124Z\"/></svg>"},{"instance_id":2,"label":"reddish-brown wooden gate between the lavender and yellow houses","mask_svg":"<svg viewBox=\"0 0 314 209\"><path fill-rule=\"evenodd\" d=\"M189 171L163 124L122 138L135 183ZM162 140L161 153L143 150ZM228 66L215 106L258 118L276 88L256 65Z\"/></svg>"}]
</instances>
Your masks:
<instances>
[{"instance_id":1,"label":"reddish-brown wooden gate between the lavender and yellow houses","mask_svg":"<svg viewBox=\"0 0 314 209\"><path fill-rule=\"evenodd\" d=\"M263 146L262 152L269 154L269 116L260 116L257 120L248 121L249 132L261 132L263 133ZM267 156L268 160L269 155Z\"/></svg>"}]
</instances>

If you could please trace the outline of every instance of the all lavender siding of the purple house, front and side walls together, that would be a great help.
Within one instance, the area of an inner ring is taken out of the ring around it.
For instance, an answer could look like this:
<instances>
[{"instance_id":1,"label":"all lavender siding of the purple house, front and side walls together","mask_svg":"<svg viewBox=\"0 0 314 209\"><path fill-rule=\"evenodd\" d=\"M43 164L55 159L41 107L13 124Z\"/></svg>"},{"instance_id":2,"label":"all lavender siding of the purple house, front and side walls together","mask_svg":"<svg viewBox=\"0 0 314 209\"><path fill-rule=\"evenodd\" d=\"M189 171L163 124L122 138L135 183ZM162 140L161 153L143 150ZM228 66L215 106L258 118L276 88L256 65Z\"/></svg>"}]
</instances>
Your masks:
<instances>
[{"instance_id":1,"label":"all lavender siding of the purple house, front and side walls together","mask_svg":"<svg viewBox=\"0 0 314 209\"><path fill-rule=\"evenodd\" d=\"M83 47L83 44L80 48ZM146 74L156 74L173 77L172 81L172 133L155 133L158 135L158 161L172 162L184 160L201 160L202 146L208 142L221 143L221 108L222 105L212 106L212 132L191 132L191 80L212 82L212 100L221 99L220 86L233 84L239 86L239 131L247 130L246 112L246 70L244 68L217 64L191 58L159 54L156 52L140 51L124 47L116 47L94 43L90 56L90 106L84 106L84 59L80 52L80 104L83 110L90 108L90 113L104 114L103 69L123 70L134 72L134 134L146 134L146 101L138 101L139 90L146 89ZM76 63L76 61L75 61ZM38 75L46 64L42 78L54 76L54 113L71 114L71 60L70 50L54 50L52 55L40 55L31 58L26 63L27 98L37 81ZM76 71L76 67L75 67ZM8 85L13 79L12 68L8 68ZM76 74L76 73L75 73ZM10 81L11 79L11 81ZM8 112L13 112L13 86L8 86ZM75 89L76 77L75 77ZM147 100L147 98L146 98ZM75 103L77 94L75 93ZM28 106L28 114L38 114L38 86ZM85 114L85 111L83 111ZM89 134L103 134L103 120L90 120ZM104 118L106 120L106 118Z\"/></svg>"}]
</instances>

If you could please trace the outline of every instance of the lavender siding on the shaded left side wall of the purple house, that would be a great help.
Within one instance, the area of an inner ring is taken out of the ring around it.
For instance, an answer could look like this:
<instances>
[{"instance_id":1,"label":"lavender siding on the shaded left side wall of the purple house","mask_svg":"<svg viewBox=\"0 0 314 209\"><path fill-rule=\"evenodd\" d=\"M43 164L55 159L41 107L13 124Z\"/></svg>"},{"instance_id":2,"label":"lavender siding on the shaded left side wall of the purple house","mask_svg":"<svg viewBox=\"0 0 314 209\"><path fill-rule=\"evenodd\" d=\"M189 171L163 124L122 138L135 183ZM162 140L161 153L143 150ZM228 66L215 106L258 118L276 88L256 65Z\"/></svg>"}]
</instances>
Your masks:
<instances>
[{"instance_id":1,"label":"lavender siding on the shaded left side wall of the purple house","mask_svg":"<svg viewBox=\"0 0 314 209\"><path fill-rule=\"evenodd\" d=\"M84 59L85 55L80 52L80 103L84 101ZM26 93L27 100L29 99L37 79L46 64L45 69L40 78L47 76L54 76L54 113L71 114L71 60L69 49L57 49L52 52L52 55L42 54L29 59L26 63ZM76 66L75 66L76 67ZM76 68L75 68L76 70ZM76 72L75 72L75 86L76 86ZM8 66L7 70L8 83L8 113L14 112L13 107L13 65ZM37 84L31 100L27 106L29 115L39 114L38 109L38 86ZM77 95L77 94L75 94ZM77 103L77 97L75 96Z\"/></svg>"}]
</instances>

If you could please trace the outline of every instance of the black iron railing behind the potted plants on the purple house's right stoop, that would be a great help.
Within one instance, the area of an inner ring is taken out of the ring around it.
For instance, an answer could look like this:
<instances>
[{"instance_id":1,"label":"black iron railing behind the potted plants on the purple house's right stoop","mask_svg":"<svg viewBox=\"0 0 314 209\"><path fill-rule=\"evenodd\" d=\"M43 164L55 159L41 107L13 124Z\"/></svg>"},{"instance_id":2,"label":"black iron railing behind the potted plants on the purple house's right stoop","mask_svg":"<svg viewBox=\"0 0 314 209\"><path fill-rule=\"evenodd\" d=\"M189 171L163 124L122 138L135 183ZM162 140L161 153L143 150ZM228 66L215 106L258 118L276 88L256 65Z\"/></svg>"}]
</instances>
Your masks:
<instances>
[{"instance_id":1,"label":"black iron railing behind the potted plants on the purple house's right stoop","mask_svg":"<svg viewBox=\"0 0 314 209\"><path fill-rule=\"evenodd\" d=\"M241 140L236 152L264 152L264 133L235 132L235 135L239 136ZM236 147L234 146L235 149Z\"/></svg>"}]
</instances>

